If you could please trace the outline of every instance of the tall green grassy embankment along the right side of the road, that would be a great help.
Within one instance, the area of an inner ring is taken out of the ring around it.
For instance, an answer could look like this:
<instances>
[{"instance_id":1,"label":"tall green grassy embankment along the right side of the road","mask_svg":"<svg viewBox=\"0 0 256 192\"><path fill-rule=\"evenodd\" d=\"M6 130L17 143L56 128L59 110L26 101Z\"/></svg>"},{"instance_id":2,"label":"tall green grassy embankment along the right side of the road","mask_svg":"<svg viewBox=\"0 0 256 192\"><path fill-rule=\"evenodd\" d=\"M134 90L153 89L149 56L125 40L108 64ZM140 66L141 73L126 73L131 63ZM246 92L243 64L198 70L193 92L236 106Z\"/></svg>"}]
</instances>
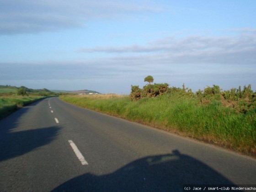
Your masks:
<instances>
[{"instance_id":1,"label":"tall green grassy embankment along the right side of the road","mask_svg":"<svg viewBox=\"0 0 256 192\"><path fill-rule=\"evenodd\" d=\"M131 101L129 96L64 95L60 99L80 107L165 129L183 136L256 155L256 109L237 111L240 102L207 101L168 93ZM229 105L230 104L230 105ZM229 107L233 106L233 107Z\"/></svg>"}]
</instances>

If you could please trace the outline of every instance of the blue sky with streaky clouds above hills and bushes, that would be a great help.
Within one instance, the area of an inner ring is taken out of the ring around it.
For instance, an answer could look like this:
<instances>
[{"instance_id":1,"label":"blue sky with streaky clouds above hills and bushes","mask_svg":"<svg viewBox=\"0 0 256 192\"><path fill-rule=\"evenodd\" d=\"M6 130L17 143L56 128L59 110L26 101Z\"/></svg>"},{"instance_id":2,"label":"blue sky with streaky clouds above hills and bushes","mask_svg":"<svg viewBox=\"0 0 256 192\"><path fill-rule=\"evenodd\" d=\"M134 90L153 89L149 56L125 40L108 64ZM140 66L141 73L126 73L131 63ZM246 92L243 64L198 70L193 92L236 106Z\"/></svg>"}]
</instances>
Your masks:
<instances>
[{"instance_id":1,"label":"blue sky with streaky clouds above hills and bushes","mask_svg":"<svg viewBox=\"0 0 256 192\"><path fill-rule=\"evenodd\" d=\"M0 0L0 85L256 90L255 0Z\"/></svg>"}]
</instances>

